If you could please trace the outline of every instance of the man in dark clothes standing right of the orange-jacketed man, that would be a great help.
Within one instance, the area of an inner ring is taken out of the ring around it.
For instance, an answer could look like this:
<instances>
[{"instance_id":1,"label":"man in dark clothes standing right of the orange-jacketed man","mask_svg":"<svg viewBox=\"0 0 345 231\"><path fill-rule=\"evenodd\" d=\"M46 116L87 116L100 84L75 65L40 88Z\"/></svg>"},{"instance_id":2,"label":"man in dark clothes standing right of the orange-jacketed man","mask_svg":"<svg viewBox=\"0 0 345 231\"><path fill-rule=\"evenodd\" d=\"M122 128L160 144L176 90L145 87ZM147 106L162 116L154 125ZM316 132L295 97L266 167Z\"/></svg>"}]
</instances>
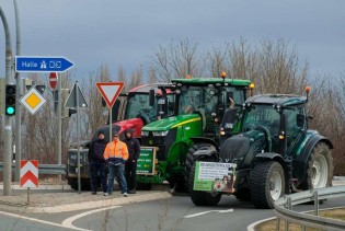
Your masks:
<instances>
[{"instance_id":1,"label":"man in dark clothes standing right of the orange-jacketed man","mask_svg":"<svg viewBox=\"0 0 345 231\"><path fill-rule=\"evenodd\" d=\"M125 163L127 188L129 194L135 194L137 188L137 160L140 153L140 143L133 137L133 129L125 132L126 139L124 142L127 145L129 158Z\"/></svg>"}]
</instances>

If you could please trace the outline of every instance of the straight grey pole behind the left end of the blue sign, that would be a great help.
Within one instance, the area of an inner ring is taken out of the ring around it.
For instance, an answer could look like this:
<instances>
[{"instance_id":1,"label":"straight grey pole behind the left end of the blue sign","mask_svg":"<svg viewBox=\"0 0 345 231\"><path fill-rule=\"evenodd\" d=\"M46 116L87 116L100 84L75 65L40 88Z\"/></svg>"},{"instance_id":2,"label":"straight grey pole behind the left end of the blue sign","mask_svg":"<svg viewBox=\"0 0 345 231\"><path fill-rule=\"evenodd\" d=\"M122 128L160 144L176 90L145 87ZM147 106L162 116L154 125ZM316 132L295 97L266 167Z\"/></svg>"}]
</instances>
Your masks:
<instances>
[{"instance_id":1,"label":"straight grey pole behind the left end of the blue sign","mask_svg":"<svg viewBox=\"0 0 345 231\"><path fill-rule=\"evenodd\" d=\"M13 0L14 12L15 12L15 36L16 36L16 56L21 55L21 31L20 31L20 20L16 0ZM20 73L15 73L15 182L21 180L21 160L22 160L22 105L20 103L20 97L22 96L22 81L20 79Z\"/></svg>"}]
</instances>

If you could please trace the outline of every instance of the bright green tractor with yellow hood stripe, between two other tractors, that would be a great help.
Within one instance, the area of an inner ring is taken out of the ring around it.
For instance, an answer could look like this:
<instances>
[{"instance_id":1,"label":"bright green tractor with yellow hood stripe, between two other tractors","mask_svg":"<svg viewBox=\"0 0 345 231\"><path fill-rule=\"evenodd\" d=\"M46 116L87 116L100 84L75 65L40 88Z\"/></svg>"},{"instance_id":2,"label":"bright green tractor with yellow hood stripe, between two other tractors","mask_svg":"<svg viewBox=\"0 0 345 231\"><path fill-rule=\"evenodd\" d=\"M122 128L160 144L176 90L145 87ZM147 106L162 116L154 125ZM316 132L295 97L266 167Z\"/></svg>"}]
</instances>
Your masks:
<instances>
[{"instance_id":1,"label":"bright green tractor with yellow hood stripe, between two other tractors","mask_svg":"<svg viewBox=\"0 0 345 231\"><path fill-rule=\"evenodd\" d=\"M185 192L185 173L191 168L191 161L186 161L188 150L197 147L217 149L220 122L230 106L229 99L241 107L251 81L226 79L223 74L222 78L174 79L172 84L175 103L168 107L174 108L174 115L150 123L141 130L138 169L142 165L150 168L137 171L137 180L138 185L148 188L168 181L176 192Z\"/></svg>"}]
</instances>

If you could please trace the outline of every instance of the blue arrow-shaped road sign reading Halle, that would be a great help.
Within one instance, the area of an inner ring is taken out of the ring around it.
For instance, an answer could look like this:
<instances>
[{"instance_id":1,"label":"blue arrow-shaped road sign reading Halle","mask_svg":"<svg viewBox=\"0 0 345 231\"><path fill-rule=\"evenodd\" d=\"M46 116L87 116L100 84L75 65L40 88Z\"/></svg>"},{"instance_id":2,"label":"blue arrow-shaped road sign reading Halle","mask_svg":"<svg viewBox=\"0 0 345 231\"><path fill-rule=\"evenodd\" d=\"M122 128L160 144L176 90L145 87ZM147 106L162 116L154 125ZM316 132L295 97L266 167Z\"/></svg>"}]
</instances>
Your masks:
<instances>
[{"instance_id":1,"label":"blue arrow-shaped road sign reading Halle","mask_svg":"<svg viewBox=\"0 0 345 231\"><path fill-rule=\"evenodd\" d=\"M16 72L64 72L73 66L65 57L15 56Z\"/></svg>"}]
</instances>

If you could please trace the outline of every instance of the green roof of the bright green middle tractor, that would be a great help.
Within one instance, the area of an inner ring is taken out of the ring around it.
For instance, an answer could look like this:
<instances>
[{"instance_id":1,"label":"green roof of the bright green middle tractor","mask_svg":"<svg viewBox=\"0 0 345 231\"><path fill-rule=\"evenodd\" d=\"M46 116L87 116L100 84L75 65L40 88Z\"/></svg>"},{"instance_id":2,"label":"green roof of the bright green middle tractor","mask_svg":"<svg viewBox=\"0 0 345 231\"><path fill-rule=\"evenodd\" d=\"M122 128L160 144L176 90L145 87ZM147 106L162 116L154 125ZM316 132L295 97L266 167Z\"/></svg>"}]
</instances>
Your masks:
<instances>
[{"instance_id":1,"label":"green roof of the bright green middle tractor","mask_svg":"<svg viewBox=\"0 0 345 231\"><path fill-rule=\"evenodd\" d=\"M216 83L228 83L233 86L249 86L251 84L250 80L240 80L240 79L221 79L221 78L191 78L191 79L173 79L172 83L181 83L184 85L208 85Z\"/></svg>"}]
</instances>

